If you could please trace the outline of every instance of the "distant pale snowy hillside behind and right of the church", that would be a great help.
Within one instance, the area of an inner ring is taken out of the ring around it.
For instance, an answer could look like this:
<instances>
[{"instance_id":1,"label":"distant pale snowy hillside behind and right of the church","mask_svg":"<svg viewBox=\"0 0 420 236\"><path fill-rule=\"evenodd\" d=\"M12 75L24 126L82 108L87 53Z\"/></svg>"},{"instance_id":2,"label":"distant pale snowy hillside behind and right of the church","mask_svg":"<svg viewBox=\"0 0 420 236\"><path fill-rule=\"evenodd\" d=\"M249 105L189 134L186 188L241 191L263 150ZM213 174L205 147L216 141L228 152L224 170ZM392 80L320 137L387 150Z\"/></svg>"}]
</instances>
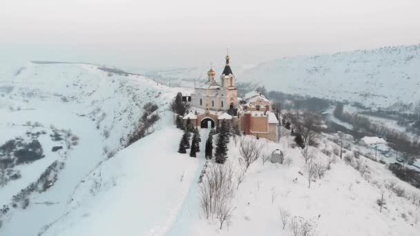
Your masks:
<instances>
[{"instance_id":1,"label":"distant pale snowy hillside behind and right of the church","mask_svg":"<svg viewBox=\"0 0 420 236\"><path fill-rule=\"evenodd\" d=\"M419 104L420 45L283 57L245 70L238 82L268 90L358 101L365 106Z\"/></svg>"}]
</instances>

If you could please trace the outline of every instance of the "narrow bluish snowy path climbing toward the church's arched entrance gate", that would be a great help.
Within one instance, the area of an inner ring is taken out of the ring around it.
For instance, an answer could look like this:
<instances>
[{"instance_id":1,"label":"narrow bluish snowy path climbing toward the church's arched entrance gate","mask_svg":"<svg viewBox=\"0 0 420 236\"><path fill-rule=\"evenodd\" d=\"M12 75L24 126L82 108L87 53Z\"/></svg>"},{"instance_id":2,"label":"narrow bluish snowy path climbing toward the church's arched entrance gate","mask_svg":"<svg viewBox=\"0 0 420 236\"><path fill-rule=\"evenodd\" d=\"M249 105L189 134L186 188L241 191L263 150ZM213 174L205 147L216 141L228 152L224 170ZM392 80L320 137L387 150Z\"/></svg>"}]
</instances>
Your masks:
<instances>
[{"instance_id":1,"label":"narrow bluish snowy path climbing toward the church's arched entrance gate","mask_svg":"<svg viewBox=\"0 0 420 236\"><path fill-rule=\"evenodd\" d=\"M200 143L200 153L198 153L199 168L195 170L193 181L188 191L187 197L184 198L180 210L178 210L178 215L173 222L173 225L169 230L166 231L166 236L178 236L178 235L190 235L191 226L193 226L193 221L198 219L198 213L200 211L200 200L198 198L198 178L200 177L202 168L206 163L206 158L204 157L206 140L209 136L210 129L204 128L200 130L201 143Z\"/></svg>"}]
</instances>

